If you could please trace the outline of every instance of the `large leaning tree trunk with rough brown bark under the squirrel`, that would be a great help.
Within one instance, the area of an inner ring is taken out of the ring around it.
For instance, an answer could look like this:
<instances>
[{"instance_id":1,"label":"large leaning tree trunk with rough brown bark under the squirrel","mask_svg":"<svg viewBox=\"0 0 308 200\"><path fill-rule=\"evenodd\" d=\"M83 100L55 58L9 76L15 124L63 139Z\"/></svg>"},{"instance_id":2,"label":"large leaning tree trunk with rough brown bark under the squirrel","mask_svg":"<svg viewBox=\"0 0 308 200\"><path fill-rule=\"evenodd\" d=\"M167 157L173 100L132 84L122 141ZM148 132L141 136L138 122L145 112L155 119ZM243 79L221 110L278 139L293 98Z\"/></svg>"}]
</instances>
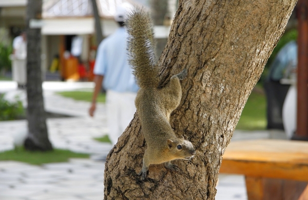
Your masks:
<instances>
[{"instance_id":1,"label":"large leaning tree trunk with rough brown bark under the squirrel","mask_svg":"<svg viewBox=\"0 0 308 200\"><path fill-rule=\"evenodd\" d=\"M137 174L146 147L138 113L110 151L105 165L105 199L214 199L222 155L249 94L283 33L296 0L180 1L167 45L159 59L162 85L188 70L183 96L170 124L194 144L191 161Z\"/></svg>"}]
</instances>

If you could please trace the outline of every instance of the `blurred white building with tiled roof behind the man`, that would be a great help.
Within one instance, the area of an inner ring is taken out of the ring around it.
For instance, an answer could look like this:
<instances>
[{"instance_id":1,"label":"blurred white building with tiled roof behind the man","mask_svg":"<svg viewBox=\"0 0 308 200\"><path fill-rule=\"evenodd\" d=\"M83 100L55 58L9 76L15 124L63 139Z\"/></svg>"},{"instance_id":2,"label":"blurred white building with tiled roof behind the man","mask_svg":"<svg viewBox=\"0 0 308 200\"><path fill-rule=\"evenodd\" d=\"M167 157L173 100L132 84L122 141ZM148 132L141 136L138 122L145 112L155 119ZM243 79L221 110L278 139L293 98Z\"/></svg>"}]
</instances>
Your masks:
<instances>
[{"instance_id":1,"label":"blurred white building with tiled roof behind the man","mask_svg":"<svg viewBox=\"0 0 308 200\"><path fill-rule=\"evenodd\" d=\"M117 29L113 15L124 2L146 6L138 0L97 0L103 35ZM0 0L1 41L9 41L25 29L27 0ZM42 29L42 72L60 69L61 79L77 80L89 76L95 58L94 18L91 0L43 0L42 20L31 21ZM170 27L156 27L157 37L167 37ZM1 31L3 30L3 31Z\"/></svg>"}]
</instances>

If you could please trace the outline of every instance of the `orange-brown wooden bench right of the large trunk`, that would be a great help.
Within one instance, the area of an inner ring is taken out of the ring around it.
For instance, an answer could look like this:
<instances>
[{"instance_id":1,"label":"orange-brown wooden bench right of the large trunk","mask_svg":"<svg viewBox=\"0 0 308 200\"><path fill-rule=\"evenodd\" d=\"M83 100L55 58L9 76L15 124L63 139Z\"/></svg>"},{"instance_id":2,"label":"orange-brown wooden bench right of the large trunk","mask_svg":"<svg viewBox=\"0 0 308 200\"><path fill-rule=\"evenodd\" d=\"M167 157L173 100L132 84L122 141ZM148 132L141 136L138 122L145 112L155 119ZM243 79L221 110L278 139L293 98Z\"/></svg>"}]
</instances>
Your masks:
<instances>
[{"instance_id":1,"label":"orange-brown wooden bench right of the large trunk","mask_svg":"<svg viewBox=\"0 0 308 200\"><path fill-rule=\"evenodd\" d=\"M308 142L231 142L220 173L245 175L248 200L308 200Z\"/></svg>"}]
</instances>

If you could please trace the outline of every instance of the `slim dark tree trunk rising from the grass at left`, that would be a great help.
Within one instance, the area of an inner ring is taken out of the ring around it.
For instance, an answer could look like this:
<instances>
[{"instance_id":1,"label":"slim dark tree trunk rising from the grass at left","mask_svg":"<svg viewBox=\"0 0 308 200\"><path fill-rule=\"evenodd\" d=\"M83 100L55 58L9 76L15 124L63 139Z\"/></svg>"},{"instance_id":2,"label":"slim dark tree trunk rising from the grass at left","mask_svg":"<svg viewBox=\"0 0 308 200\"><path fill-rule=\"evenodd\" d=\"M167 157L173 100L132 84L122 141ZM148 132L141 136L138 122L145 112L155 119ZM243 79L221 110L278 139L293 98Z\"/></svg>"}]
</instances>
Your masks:
<instances>
[{"instance_id":1,"label":"slim dark tree trunk rising from the grass at left","mask_svg":"<svg viewBox=\"0 0 308 200\"><path fill-rule=\"evenodd\" d=\"M27 150L52 150L48 139L46 112L42 92L41 70L41 29L30 28L30 19L40 19L42 0L29 0L27 5L27 120L28 136L25 141Z\"/></svg>"}]
</instances>

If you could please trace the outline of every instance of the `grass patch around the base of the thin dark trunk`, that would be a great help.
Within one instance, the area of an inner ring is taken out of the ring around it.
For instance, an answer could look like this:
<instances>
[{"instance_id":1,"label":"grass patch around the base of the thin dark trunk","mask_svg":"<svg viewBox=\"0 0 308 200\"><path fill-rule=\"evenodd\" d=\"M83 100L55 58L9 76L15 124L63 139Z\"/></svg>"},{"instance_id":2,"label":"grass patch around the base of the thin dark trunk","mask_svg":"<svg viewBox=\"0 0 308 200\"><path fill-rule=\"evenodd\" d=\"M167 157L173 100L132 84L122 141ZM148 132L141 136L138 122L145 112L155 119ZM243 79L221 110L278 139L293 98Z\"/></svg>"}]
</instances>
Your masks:
<instances>
[{"instance_id":1,"label":"grass patch around the base of the thin dark trunk","mask_svg":"<svg viewBox=\"0 0 308 200\"><path fill-rule=\"evenodd\" d=\"M0 161L19 161L32 165L45 163L68 162L71 157L89 158L89 154L74 153L69 150L54 149L53 151L26 151L23 147L16 147L14 150L0 152Z\"/></svg>"}]
</instances>

